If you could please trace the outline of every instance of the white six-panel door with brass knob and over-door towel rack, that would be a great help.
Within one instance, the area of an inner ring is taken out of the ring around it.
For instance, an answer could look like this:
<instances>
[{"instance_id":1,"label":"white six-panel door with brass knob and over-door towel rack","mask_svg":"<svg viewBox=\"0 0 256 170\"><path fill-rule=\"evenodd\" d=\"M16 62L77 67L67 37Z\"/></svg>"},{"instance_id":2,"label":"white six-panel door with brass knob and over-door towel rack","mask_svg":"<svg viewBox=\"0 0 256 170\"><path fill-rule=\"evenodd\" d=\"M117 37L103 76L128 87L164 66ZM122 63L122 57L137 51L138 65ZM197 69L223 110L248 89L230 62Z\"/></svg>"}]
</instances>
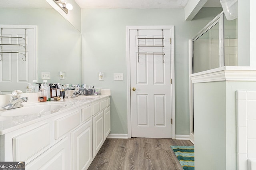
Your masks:
<instances>
[{"instance_id":1,"label":"white six-panel door with brass knob and over-door towel rack","mask_svg":"<svg viewBox=\"0 0 256 170\"><path fill-rule=\"evenodd\" d=\"M172 138L170 35L170 29L130 30L132 137Z\"/></svg>"}]
</instances>

